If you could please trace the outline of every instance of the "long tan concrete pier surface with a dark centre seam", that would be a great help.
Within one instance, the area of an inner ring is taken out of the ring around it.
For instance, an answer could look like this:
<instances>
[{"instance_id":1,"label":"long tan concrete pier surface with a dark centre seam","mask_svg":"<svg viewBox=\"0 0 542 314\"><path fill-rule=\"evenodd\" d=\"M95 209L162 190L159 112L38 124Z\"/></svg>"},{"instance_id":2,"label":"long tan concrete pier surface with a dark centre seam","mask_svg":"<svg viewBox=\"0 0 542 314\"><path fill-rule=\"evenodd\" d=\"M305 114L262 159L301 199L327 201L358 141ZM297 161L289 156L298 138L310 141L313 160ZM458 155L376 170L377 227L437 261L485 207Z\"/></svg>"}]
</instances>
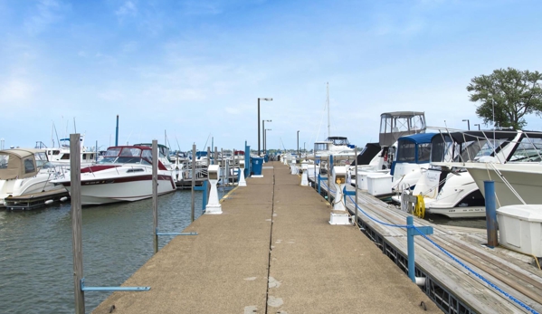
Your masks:
<instances>
[{"instance_id":1,"label":"long tan concrete pier surface with a dark centre seam","mask_svg":"<svg viewBox=\"0 0 542 314\"><path fill-rule=\"evenodd\" d=\"M442 313L356 227L329 224L331 206L289 167L262 172L123 284L151 290L92 313Z\"/></svg>"}]
</instances>

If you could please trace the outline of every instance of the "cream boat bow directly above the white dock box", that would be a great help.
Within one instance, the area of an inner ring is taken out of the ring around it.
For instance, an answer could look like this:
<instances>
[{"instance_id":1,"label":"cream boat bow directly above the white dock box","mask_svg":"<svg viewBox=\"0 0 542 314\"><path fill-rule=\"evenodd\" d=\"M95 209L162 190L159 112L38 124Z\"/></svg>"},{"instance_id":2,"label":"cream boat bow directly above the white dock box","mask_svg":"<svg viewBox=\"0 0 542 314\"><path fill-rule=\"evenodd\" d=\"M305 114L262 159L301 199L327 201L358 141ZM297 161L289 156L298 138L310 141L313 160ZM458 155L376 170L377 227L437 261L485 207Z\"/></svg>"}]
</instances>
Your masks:
<instances>
[{"instance_id":1,"label":"cream boat bow directly above the white dock box","mask_svg":"<svg viewBox=\"0 0 542 314\"><path fill-rule=\"evenodd\" d=\"M540 160L538 158L538 160ZM542 204L540 162L463 163L485 197L484 181L493 181L497 208L508 205Z\"/></svg>"}]
</instances>

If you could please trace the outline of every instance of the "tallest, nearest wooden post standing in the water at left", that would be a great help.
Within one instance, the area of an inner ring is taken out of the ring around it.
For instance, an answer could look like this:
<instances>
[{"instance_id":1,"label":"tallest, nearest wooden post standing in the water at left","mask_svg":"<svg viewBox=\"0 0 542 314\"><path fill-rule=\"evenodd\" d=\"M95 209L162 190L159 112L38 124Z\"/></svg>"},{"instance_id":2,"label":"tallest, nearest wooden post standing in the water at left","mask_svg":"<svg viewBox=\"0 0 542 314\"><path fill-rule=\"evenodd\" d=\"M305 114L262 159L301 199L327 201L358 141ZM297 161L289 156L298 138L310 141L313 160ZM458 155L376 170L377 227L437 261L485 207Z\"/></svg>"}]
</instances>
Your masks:
<instances>
[{"instance_id":1,"label":"tallest, nearest wooden post standing in the water at left","mask_svg":"<svg viewBox=\"0 0 542 314\"><path fill-rule=\"evenodd\" d=\"M83 278L83 252L81 237L81 135L70 134L71 180L71 245L73 250L73 290L75 313L85 314L85 292L81 290Z\"/></svg>"}]
</instances>

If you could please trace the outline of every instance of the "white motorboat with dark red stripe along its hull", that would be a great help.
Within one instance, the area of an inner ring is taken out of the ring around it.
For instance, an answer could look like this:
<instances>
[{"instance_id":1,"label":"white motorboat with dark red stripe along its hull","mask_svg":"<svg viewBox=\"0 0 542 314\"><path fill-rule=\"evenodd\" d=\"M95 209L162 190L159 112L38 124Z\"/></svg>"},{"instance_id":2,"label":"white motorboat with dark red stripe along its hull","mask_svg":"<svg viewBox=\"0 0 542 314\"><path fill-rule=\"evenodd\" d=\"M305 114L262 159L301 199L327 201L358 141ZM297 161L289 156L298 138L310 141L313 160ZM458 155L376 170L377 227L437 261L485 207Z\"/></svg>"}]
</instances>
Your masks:
<instances>
[{"instance_id":1,"label":"white motorboat with dark red stripe along its hull","mask_svg":"<svg viewBox=\"0 0 542 314\"><path fill-rule=\"evenodd\" d=\"M71 192L70 177L53 181ZM158 160L158 195L176 191L175 173ZM100 164L81 168L81 205L138 201L152 197L152 149L109 147Z\"/></svg>"}]
</instances>

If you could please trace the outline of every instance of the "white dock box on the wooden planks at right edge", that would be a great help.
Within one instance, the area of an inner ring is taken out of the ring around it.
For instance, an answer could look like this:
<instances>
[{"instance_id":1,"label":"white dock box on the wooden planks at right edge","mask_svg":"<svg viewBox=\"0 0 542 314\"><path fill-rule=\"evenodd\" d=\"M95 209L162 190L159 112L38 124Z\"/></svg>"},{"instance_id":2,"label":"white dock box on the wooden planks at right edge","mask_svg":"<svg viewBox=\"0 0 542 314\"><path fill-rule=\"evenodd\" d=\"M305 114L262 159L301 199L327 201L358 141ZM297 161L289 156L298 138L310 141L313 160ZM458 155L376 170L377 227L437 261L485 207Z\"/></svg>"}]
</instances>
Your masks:
<instances>
[{"instance_id":1,"label":"white dock box on the wooden planks at right edge","mask_svg":"<svg viewBox=\"0 0 542 314\"><path fill-rule=\"evenodd\" d=\"M497 210L499 243L542 257L542 205L508 205Z\"/></svg>"}]
</instances>

